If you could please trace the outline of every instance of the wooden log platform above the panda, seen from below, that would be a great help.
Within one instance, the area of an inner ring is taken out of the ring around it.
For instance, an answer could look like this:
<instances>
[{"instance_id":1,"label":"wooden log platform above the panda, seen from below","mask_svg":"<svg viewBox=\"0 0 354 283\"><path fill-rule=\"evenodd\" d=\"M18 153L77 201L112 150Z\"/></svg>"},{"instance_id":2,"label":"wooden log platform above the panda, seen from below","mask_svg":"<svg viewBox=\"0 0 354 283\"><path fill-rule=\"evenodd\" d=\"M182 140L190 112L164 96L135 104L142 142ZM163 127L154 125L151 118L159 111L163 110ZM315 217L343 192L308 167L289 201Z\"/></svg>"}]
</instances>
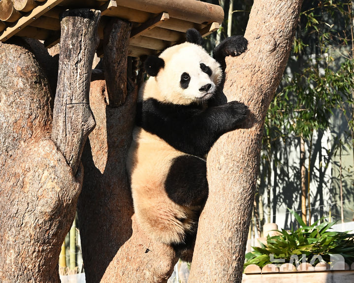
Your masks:
<instances>
[{"instance_id":1,"label":"wooden log platform above the panda, seen from below","mask_svg":"<svg viewBox=\"0 0 354 283\"><path fill-rule=\"evenodd\" d=\"M101 40L109 17L132 23L132 57L158 53L183 41L189 28L205 36L216 31L224 19L220 6L198 0L0 0L0 40L14 35L30 37L43 40L50 48L60 39L60 13L84 7L101 10Z\"/></svg>"}]
</instances>

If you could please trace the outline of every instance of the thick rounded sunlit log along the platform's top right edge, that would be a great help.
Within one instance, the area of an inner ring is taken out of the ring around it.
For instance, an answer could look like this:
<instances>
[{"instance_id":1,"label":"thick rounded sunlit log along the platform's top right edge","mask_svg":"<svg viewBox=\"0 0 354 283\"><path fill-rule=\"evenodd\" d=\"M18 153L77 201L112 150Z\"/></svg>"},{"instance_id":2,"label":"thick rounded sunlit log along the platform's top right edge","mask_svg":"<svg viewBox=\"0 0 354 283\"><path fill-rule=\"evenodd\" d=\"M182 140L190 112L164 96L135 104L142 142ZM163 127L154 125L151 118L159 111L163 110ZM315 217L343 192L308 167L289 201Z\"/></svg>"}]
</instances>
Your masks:
<instances>
[{"instance_id":1,"label":"thick rounded sunlit log along the platform's top right edge","mask_svg":"<svg viewBox=\"0 0 354 283\"><path fill-rule=\"evenodd\" d=\"M119 0L119 5L141 10L148 13L160 14L167 12L170 18L194 22L197 24L211 24L224 20L224 10L219 5L193 0Z\"/></svg>"}]
</instances>

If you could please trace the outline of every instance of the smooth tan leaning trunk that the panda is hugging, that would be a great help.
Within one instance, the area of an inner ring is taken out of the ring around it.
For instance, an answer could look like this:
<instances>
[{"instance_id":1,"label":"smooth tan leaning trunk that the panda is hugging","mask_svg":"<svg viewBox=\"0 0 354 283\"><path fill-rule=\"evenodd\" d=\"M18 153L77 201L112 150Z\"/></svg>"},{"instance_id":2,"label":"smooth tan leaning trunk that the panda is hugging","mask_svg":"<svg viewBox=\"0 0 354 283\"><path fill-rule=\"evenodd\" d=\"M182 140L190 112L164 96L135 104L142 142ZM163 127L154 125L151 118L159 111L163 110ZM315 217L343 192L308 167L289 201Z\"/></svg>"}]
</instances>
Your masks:
<instances>
[{"instance_id":1,"label":"smooth tan leaning trunk that the panda is hugging","mask_svg":"<svg viewBox=\"0 0 354 283\"><path fill-rule=\"evenodd\" d=\"M224 92L247 104L244 129L223 135L207 158L209 196L199 219L190 283L240 283L266 112L289 58L301 0L255 0L248 51L227 58Z\"/></svg>"}]
</instances>

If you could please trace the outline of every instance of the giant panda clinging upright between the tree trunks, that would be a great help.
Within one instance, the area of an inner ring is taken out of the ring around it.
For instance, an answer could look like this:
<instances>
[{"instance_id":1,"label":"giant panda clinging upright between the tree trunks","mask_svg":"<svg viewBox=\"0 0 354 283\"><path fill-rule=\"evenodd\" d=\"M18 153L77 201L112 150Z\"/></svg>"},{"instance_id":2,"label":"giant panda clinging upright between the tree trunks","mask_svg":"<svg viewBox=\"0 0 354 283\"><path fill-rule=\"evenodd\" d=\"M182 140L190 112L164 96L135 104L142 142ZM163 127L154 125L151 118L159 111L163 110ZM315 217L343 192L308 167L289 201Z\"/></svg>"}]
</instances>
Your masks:
<instances>
[{"instance_id":1,"label":"giant panda clinging upright between the tree trunks","mask_svg":"<svg viewBox=\"0 0 354 283\"><path fill-rule=\"evenodd\" d=\"M227 38L215 48L214 59L201 46L198 31L188 30L186 37L145 61L150 77L139 90L127 169L141 228L191 261L208 196L204 157L247 116L242 103L210 106L210 101L222 95L225 56L245 51L247 40Z\"/></svg>"}]
</instances>

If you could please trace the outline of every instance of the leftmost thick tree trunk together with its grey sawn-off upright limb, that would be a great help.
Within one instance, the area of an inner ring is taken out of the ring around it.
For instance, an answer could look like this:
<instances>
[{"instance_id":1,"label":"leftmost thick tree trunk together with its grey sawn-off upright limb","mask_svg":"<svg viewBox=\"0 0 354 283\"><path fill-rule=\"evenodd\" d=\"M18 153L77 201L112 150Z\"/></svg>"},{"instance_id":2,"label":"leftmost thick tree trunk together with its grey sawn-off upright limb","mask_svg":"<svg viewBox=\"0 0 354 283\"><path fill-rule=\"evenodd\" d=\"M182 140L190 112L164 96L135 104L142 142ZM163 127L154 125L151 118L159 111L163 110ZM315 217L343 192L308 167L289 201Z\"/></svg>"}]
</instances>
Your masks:
<instances>
[{"instance_id":1,"label":"leftmost thick tree trunk together with its grey sawn-off upright limb","mask_svg":"<svg viewBox=\"0 0 354 283\"><path fill-rule=\"evenodd\" d=\"M0 45L0 282L60 282L59 254L83 181L80 154L93 126L88 89L99 12L63 17L53 127L43 69L26 48Z\"/></svg>"}]
</instances>

